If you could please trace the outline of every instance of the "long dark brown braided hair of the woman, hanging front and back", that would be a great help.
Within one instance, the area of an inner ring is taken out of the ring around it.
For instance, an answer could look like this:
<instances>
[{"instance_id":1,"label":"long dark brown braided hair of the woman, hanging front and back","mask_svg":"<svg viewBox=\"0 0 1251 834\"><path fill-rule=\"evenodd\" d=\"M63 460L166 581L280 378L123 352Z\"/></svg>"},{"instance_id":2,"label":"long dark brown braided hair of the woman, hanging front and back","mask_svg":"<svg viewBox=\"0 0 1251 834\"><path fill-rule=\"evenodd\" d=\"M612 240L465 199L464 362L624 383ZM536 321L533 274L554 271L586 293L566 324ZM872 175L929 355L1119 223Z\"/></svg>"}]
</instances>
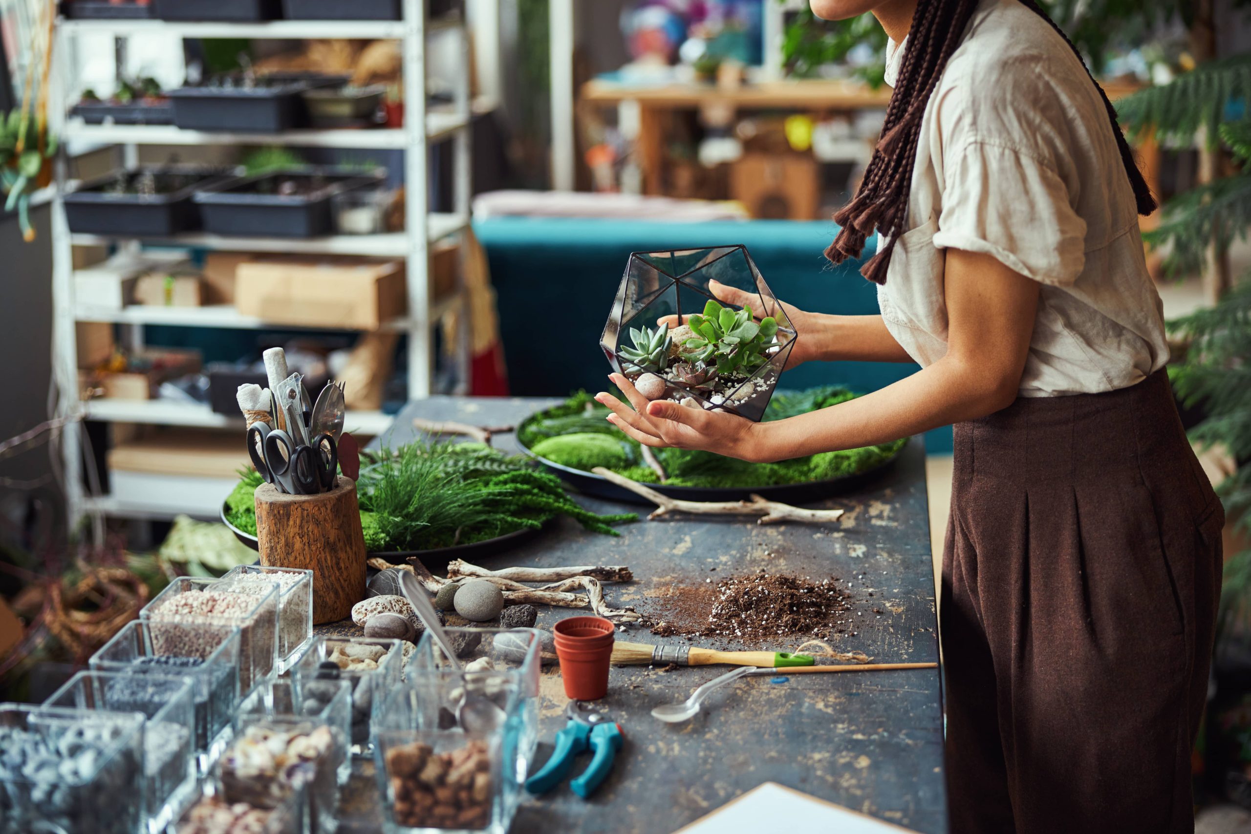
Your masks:
<instances>
[{"instance_id":1,"label":"long dark brown braided hair of the woman, hanging front and back","mask_svg":"<svg viewBox=\"0 0 1251 834\"><path fill-rule=\"evenodd\" d=\"M1035 0L1021 0L1021 3L1051 24L1077 55L1077 60L1082 60L1073 43ZM965 30L968 29L977 5L978 0L921 0L917 4L908 30L908 49L903 55L903 65L899 68L891 103L887 105L882 138L873 150L868 168L864 169L864 178L856 196L834 214L834 223L842 229L834 243L826 249L826 258L834 264L858 256L864 249L866 239L874 230L887 238L886 245L861 269L861 274L876 284L886 284L891 253L907 221L908 193L917 159L917 143L921 139L922 115L929 95L938 86L947 60L965 39ZM1138 214L1151 214L1156 210L1156 199L1138 170L1125 134L1121 133L1116 109L1088 68L1087 75L1107 108L1107 116L1121 150L1125 173L1133 189Z\"/></svg>"}]
</instances>

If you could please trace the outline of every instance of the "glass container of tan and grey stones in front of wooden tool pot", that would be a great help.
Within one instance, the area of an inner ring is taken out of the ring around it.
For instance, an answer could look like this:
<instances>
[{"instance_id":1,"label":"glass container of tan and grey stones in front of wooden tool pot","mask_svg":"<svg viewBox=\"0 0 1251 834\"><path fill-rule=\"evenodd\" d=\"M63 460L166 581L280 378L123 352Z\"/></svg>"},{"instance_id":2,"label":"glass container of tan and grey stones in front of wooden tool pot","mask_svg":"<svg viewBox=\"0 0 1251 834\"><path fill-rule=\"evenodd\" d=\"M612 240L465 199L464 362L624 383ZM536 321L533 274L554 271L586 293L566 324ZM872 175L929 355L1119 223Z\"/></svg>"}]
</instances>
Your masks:
<instances>
[{"instance_id":1,"label":"glass container of tan and grey stones in front of wooden tool pot","mask_svg":"<svg viewBox=\"0 0 1251 834\"><path fill-rule=\"evenodd\" d=\"M352 681L352 753L368 755L370 726L383 700L399 685L403 649L400 640L384 638L318 636L291 670L303 694L314 680Z\"/></svg>"}]
</instances>

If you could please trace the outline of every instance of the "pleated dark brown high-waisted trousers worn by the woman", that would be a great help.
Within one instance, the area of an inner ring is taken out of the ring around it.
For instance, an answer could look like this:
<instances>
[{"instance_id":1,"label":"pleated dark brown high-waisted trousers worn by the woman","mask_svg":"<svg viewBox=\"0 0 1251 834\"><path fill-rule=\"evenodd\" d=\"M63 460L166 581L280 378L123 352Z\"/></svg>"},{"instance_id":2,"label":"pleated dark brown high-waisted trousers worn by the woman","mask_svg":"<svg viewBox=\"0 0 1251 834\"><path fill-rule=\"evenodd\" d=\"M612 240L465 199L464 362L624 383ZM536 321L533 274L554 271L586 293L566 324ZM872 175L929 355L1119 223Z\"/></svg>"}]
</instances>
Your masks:
<instances>
[{"instance_id":1,"label":"pleated dark brown high-waisted trousers worn by the woman","mask_svg":"<svg viewBox=\"0 0 1251 834\"><path fill-rule=\"evenodd\" d=\"M1225 514L1163 371L956 426L952 834L1193 830Z\"/></svg>"}]
</instances>

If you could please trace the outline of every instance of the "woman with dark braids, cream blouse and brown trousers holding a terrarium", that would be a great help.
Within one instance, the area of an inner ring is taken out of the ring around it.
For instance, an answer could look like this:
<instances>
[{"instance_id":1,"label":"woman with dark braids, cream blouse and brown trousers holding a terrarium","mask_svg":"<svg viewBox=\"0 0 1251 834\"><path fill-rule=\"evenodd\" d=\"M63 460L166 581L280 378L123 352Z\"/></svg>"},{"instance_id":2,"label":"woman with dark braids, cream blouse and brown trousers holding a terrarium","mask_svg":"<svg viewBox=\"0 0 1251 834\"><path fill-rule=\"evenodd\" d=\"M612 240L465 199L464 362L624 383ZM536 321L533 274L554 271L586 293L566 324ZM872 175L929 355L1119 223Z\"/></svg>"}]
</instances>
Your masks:
<instances>
[{"instance_id":1,"label":"woman with dark braids, cream blouse and brown trousers holding a terrarium","mask_svg":"<svg viewBox=\"0 0 1251 834\"><path fill-rule=\"evenodd\" d=\"M1137 225L1155 200L1115 111L1032 0L811 3L877 15L894 94L826 253L881 234L863 273L882 314L787 308L792 365L922 370L776 423L648 403L620 375L634 408L597 399L643 444L754 461L953 423L952 830L1191 831L1223 513L1165 376Z\"/></svg>"}]
</instances>

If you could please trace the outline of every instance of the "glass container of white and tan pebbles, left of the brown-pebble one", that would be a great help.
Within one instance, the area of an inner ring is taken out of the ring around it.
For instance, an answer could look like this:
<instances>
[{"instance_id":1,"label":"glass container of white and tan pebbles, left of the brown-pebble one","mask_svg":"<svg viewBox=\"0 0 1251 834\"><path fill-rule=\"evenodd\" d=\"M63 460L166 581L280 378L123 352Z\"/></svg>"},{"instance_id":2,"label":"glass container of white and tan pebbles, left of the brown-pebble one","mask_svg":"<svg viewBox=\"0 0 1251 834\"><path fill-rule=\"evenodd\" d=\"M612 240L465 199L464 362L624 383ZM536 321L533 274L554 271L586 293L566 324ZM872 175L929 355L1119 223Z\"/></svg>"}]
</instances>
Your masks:
<instances>
[{"instance_id":1,"label":"glass container of white and tan pebbles, left of the brown-pebble one","mask_svg":"<svg viewBox=\"0 0 1251 834\"><path fill-rule=\"evenodd\" d=\"M231 804L278 808L304 790L308 830L334 834L339 825L334 735L319 719L240 716L234 741L214 770L214 793Z\"/></svg>"}]
</instances>

